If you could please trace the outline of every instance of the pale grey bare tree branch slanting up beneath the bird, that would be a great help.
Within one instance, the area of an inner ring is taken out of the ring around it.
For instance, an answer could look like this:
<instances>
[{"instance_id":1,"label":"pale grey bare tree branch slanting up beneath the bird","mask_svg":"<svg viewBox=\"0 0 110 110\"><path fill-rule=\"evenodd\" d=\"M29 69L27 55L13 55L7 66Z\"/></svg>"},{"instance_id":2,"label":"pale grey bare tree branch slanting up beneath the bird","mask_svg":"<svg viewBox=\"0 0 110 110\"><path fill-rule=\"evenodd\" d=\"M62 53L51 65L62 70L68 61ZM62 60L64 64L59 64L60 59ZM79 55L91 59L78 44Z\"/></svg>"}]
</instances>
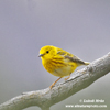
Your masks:
<instances>
[{"instance_id":1,"label":"pale grey bare tree branch slanting up beneath the bird","mask_svg":"<svg viewBox=\"0 0 110 110\"><path fill-rule=\"evenodd\" d=\"M52 89L29 91L0 105L0 110L22 110L31 106L37 106L42 110L88 87L98 78L110 72L110 53L92 62L65 82L58 84Z\"/></svg>"}]
</instances>

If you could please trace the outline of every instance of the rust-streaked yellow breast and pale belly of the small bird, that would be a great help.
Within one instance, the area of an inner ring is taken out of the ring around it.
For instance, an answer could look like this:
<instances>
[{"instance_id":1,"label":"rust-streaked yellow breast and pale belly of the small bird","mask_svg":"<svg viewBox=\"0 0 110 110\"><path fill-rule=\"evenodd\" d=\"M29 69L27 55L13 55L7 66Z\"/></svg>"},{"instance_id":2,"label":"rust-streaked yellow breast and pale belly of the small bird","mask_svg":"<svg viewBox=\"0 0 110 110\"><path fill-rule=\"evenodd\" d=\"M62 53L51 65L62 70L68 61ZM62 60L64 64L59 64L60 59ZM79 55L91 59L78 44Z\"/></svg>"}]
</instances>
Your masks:
<instances>
[{"instance_id":1,"label":"rust-streaked yellow breast and pale belly of the small bird","mask_svg":"<svg viewBox=\"0 0 110 110\"><path fill-rule=\"evenodd\" d=\"M52 58L42 61L44 68L54 76L69 76L77 67L74 62L65 61L64 58Z\"/></svg>"}]
</instances>

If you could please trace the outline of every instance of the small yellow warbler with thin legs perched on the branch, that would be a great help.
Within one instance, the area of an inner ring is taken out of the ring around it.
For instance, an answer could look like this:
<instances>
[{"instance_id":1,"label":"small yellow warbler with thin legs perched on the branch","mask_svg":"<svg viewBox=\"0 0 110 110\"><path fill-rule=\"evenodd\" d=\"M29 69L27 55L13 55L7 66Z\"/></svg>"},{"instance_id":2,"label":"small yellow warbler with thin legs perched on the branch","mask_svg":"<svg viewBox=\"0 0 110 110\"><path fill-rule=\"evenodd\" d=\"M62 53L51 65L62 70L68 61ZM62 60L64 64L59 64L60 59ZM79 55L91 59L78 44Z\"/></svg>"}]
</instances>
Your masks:
<instances>
[{"instance_id":1,"label":"small yellow warbler with thin legs perched on the branch","mask_svg":"<svg viewBox=\"0 0 110 110\"><path fill-rule=\"evenodd\" d=\"M40 50L38 57L42 58L42 64L48 73L59 77L50 86L50 88L52 88L61 78L65 76L70 77L70 74L78 66L89 64L88 62L82 62L77 56L53 45L43 46ZM65 80L68 78L65 78Z\"/></svg>"}]
</instances>

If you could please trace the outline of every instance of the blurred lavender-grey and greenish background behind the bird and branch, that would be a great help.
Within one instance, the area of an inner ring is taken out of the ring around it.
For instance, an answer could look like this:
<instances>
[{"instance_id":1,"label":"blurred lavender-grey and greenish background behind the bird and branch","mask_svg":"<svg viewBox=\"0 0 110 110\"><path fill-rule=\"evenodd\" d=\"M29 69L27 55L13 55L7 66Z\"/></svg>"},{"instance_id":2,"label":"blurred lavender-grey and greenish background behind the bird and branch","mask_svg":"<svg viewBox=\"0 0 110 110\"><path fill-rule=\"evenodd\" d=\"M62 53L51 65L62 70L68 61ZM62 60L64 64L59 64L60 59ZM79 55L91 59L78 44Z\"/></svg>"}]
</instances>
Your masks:
<instances>
[{"instance_id":1,"label":"blurred lavender-grey and greenish background behind the bird and branch","mask_svg":"<svg viewBox=\"0 0 110 110\"><path fill-rule=\"evenodd\" d=\"M37 57L44 45L58 46L87 62L106 55L110 51L110 0L0 0L0 103L47 88L57 79ZM102 110L110 110L110 74L51 109L69 110L66 105L81 99L103 99L108 108Z\"/></svg>"}]
</instances>

